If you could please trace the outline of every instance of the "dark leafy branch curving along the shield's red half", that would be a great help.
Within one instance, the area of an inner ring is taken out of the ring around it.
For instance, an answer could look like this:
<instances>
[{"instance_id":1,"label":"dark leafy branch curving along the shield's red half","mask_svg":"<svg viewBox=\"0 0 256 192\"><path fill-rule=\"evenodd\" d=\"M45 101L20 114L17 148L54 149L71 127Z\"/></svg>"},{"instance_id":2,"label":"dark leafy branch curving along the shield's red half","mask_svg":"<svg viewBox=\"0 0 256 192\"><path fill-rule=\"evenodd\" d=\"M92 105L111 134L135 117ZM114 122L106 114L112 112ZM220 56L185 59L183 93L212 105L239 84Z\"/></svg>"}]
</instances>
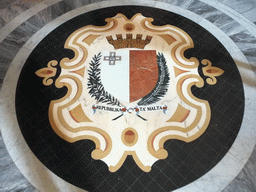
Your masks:
<instances>
[{"instance_id":1,"label":"dark leafy branch curving along the shield's red half","mask_svg":"<svg viewBox=\"0 0 256 192\"><path fill-rule=\"evenodd\" d=\"M138 105L150 105L156 103L163 97L168 91L169 85L169 71L166 65L166 60L162 53L157 55L157 64L158 64L158 81L155 88L145 97L143 97Z\"/></svg>"}]
</instances>

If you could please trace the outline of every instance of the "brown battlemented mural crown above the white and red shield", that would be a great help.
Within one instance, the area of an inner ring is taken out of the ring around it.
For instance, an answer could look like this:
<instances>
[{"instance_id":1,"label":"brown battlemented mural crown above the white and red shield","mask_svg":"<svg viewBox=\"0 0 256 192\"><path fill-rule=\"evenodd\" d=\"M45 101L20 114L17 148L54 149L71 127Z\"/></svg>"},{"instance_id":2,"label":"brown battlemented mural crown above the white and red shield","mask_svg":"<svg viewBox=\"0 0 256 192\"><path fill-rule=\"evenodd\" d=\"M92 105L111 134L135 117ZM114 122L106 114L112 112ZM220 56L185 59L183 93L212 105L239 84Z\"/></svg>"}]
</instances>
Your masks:
<instances>
[{"instance_id":1,"label":"brown battlemented mural crown above the white and red shield","mask_svg":"<svg viewBox=\"0 0 256 192\"><path fill-rule=\"evenodd\" d=\"M116 40L113 40L112 36L108 36L108 42L114 46L115 49L121 48L138 48L144 49L144 47L150 43L152 36L146 36L145 40L142 40L142 34L137 34L136 39L132 38L132 34L126 34L126 39L123 39L121 34L116 35Z\"/></svg>"}]
</instances>

